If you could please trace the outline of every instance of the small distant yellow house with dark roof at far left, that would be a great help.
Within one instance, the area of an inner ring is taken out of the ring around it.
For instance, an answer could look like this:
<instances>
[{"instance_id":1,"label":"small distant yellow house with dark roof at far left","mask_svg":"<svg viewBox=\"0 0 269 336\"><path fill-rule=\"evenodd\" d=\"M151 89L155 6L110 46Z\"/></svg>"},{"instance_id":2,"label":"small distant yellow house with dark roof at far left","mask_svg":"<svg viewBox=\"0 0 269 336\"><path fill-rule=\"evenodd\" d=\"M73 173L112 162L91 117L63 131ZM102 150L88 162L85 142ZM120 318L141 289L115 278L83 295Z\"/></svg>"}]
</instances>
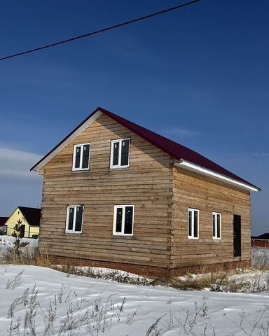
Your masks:
<instances>
[{"instance_id":1,"label":"small distant yellow house with dark roof at far left","mask_svg":"<svg viewBox=\"0 0 269 336\"><path fill-rule=\"evenodd\" d=\"M6 235L11 236L14 231L14 226L18 221L22 221L22 231L25 238L32 238L39 236L39 222L40 222L41 209L18 207L6 221L7 232Z\"/></svg>"}]
</instances>

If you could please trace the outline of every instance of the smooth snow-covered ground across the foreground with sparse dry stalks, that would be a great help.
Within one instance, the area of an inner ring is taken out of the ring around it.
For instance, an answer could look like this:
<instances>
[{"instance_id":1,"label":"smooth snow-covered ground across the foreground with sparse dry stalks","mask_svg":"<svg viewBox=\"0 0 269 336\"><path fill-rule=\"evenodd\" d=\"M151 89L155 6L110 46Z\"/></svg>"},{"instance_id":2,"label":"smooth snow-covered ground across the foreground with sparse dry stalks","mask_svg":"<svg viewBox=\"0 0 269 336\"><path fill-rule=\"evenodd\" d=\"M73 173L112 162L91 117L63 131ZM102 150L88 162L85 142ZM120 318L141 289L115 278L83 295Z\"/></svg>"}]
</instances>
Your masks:
<instances>
[{"instance_id":1,"label":"smooth snow-covered ground across the foreground with sparse dry stalks","mask_svg":"<svg viewBox=\"0 0 269 336\"><path fill-rule=\"evenodd\" d=\"M0 266L1 336L268 335L261 327L268 302L269 293L181 291Z\"/></svg>"}]
</instances>

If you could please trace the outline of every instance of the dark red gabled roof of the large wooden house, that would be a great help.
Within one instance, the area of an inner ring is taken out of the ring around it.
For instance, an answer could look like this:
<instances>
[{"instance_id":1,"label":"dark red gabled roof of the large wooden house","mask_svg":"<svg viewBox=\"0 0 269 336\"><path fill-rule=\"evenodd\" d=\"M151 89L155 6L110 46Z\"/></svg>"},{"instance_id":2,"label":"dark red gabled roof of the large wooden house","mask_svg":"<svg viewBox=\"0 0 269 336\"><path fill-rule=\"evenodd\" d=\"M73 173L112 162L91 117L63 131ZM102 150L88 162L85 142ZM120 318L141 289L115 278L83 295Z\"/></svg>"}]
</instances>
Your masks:
<instances>
[{"instance_id":1,"label":"dark red gabled roof of the large wooden house","mask_svg":"<svg viewBox=\"0 0 269 336\"><path fill-rule=\"evenodd\" d=\"M188 162L191 162L195 165L199 165L201 167L204 167L206 169L212 170L213 172L222 174L224 176L228 176L231 179L235 179L237 181L241 181L243 183L246 183L249 186L252 186L254 188L260 189L256 186L254 186L252 183L249 183L248 181L242 179L240 176L237 176L233 174L232 172L229 172L227 169L221 167L220 165L217 165L215 162L205 158L205 156L200 155L199 153L191 150L190 148L187 148L185 146L182 146L181 144L177 144L177 142L174 142L170 139L167 139L160 134L157 134L155 132L152 132L150 130L147 130L145 127L139 126L135 123L132 123L132 121L127 120L125 118L122 118L120 116L117 116L114 113L111 113L105 109L102 109L102 107L98 107L95 111L93 111L90 116L85 118L81 124L79 124L71 133L67 135L62 141L60 141L55 148L53 148L48 154L46 154L39 162L34 165L34 167L31 168L34 169L39 163L41 163L45 158L47 158L48 155L53 153L55 149L60 146L64 141L66 141L71 134L76 132L83 123L85 123L88 119L90 119L92 116L95 115L98 111L101 111L106 116L109 116L109 118L115 120L120 125L123 125L128 130L134 132L135 134L139 135L139 137L142 137L144 140L149 141L149 143L153 144L154 146L160 148L160 150L164 151L168 155L172 156L172 158L176 160L186 160Z\"/></svg>"}]
</instances>

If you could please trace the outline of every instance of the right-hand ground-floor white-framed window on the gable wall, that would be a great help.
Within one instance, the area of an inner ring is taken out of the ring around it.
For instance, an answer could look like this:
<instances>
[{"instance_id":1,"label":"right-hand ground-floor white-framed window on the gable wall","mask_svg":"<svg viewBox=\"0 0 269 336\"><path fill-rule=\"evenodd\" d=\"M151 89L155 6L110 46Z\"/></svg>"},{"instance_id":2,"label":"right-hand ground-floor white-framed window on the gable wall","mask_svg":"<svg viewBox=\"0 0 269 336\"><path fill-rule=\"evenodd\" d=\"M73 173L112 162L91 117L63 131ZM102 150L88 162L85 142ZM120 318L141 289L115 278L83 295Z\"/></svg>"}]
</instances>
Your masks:
<instances>
[{"instance_id":1,"label":"right-hand ground-floor white-framed window on the gable wall","mask_svg":"<svg viewBox=\"0 0 269 336\"><path fill-rule=\"evenodd\" d=\"M133 235L134 209L134 205L114 206L113 235Z\"/></svg>"}]
</instances>

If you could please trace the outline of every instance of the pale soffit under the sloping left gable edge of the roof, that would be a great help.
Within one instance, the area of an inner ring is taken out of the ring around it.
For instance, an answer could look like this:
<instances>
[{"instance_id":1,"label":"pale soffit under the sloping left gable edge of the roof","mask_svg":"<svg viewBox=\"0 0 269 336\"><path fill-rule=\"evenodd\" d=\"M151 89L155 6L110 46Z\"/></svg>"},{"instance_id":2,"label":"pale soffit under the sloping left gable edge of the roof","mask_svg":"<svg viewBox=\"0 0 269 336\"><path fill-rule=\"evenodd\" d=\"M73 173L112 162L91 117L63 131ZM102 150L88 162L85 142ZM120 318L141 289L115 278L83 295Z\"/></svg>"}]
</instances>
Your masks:
<instances>
[{"instance_id":1,"label":"pale soffit under the sloping left gable edge of the roof","mask_svg":"<svg viewBox=\"0 0 269 336\"><path fill-rule=\"evenodd\" d=\"M95 114L91 116L88 120L86 120L85 123L83 123L80 127L78 127L75 132L71 133L69 137L65 139L62 144L60 144L60 146L57 146L48 156L46 156L46 158L41 160L41 162L39 162L39 164L36 165L33 170L39 172L40 169L42 169L48 162L50 162L50 160L55 158L55 156L60 153L60 151L62 151L67 145L74 141L74 139L76 139L79 134L81 134L86 128L94 123L95 120L99 118L99 116L102 116L102 114L103 113L101 111L96 111Z\"/></svg>"}]
</instances>

